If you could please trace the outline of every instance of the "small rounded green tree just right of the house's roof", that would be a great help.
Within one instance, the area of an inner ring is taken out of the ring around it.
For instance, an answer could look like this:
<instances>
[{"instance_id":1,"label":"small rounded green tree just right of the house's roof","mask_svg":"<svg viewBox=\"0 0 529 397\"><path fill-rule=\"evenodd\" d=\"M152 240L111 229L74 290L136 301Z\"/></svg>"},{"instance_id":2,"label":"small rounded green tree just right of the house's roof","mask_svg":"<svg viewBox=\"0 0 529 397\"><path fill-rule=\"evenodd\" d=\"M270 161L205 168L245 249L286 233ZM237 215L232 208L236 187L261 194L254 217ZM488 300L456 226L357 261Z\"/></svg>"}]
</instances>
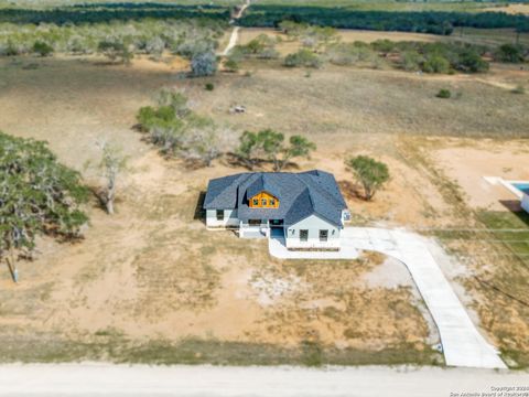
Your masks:
<instances>
[{"instance_id":1,"label":"small rounded green tree just right of the house's roof","mask_svg":"<svg viewBox=\"0 0 529 397\"><path fill-rule=\"evenodd\" d=\"M367 155L357 155L346 161L356 180L363 185L365 198L373 200L375 193L389 181L388 165Z\"/></svg>"}]
</instances>

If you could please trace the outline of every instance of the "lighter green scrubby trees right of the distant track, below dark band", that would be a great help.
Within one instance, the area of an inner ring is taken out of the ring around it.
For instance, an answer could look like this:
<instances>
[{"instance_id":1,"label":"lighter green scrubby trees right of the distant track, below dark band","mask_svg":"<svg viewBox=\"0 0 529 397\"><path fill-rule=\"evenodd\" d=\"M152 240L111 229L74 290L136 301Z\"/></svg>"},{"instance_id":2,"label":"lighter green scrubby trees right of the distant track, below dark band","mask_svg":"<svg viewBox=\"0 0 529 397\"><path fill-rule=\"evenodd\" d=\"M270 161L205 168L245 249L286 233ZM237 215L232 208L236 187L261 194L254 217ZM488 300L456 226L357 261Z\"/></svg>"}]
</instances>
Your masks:
<instances>
[{"instance_id":1,"label":"lighter green scrubby trees right of the distant track, below dark band","mask_svg":"<svg viewBox=\"0 0 529 397\"><path fill-rule=\"evenodd\" d=\"M529 47L506 43L498 46L462 42L396 42L377 40L371 43L342 42L334 28L283 21L278 26L283 36L272 39L260 34L245 45L236 46L225 61L225 68L235 72L238 63L248 57L279 58L276 45L282 41L296 41L301 49L288 54L282 64L287 67L319 68L325 63L380 68L392 65L409 72L424 73L482 73L489 61L522 63L529 60Z\"/></svg>"}]
</instances>

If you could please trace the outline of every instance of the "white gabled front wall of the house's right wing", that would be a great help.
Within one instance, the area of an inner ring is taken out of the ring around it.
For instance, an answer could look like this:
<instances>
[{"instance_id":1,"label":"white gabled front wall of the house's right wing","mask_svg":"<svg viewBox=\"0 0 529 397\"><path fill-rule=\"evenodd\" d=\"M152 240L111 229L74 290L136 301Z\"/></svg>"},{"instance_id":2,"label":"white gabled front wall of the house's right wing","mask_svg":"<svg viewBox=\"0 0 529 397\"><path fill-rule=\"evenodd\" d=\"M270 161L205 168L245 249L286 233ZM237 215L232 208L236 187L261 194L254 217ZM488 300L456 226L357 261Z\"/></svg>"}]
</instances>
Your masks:
<instances>
[{"instance_id":1,"label":"white gabled front wall of the house's right wing","mask_svg":"<svg viewBox=\"0 0 529 397\"><path fill-rule=\"evenodd\" d=\"M300 239L300 230L309 230L309 239ZM328 230L327 242L320 242L320 230ZM294 225L287 225L284 237L287 248L339 248L339 228L322 219L316 215L311 215Z\"/></svg>"}]
</instances>

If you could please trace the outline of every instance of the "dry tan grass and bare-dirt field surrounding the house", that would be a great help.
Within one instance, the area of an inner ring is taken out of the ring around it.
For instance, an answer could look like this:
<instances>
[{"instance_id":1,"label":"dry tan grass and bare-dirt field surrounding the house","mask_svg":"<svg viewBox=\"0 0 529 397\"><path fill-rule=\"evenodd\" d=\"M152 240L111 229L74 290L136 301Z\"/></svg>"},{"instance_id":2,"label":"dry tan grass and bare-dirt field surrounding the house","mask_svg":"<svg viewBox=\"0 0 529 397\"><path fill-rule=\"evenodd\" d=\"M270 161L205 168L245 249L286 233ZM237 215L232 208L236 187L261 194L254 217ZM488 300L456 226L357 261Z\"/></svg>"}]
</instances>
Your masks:
<instances>
[{"instance_id":1,"label":"dry tan grass and bare-dirt field surrounding the house","mask_svg":"<svg viewBox=\"0 0 529 397\"><path fill-rule=\"evenodd\" d=\"M159 89L174 87L197 112L229 126L228 141L268 127L306 135L319 149L298 169L334 172L356 223L436 235L485 228L477 211L506 211L497 202L508 194L487 195L482 174L529 178L519 169L529 150L529 101L511 93L528 85L529 73L495 65L485 75L425 76L325 66L307 75L249 61L237 74L190 79L185 68L176 58L139 58L130 67L96 57L0 60L1 130L47 140L83 172L97 160L101 138L119 142L130 158L115 216L94 202L82 242L40 240L35 259L20 264L19 285L0 271L0 360L439 362L431 348L435 329L402 264L375 255L280 261L269 257L266 242L207 232L196 215L207 180L242 170L224 158L199 170L162 159L132 130L134 115ZM435 98L440 88L457 95ZM231 115L239 104L248 111ZM356 196L345 169L355 153L390 167L391 181L373 203ZM511 282L527 301L526 270L507 257L471 257L483 246L439 236L460 259L464 271L449 276L483 332L527 363L528 309L475 279L486 273ZM501 255L501 246L495 249ZM515 267L517 277L507 280Z\"/></svg>"}]
</instances>

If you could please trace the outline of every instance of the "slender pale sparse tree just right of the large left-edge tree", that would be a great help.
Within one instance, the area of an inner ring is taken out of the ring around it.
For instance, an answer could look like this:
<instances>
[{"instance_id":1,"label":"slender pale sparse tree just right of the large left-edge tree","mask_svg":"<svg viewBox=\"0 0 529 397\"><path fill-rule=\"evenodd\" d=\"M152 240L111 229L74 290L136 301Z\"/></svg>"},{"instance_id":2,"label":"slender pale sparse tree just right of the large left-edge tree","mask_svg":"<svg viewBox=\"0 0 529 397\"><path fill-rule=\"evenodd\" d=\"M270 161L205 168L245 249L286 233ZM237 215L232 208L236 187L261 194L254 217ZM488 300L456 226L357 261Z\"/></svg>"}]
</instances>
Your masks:
<instances>
[{"instance_id":1,"label":"slender pale sparse tree just right of the large left-edge tree","mask_svg":"<svg viewBox=\"0 0 529 397\"><path fill-rule=\"evenodd\" d=\"M101 160L99 169L106 180L106 186L101 191L99 198L105 205L109 215L114 214L114 203L116 201L117 182L119 174L127 168L127 158L122 154L118 146L101 142Z\"/></svg>"}]
</instances>

